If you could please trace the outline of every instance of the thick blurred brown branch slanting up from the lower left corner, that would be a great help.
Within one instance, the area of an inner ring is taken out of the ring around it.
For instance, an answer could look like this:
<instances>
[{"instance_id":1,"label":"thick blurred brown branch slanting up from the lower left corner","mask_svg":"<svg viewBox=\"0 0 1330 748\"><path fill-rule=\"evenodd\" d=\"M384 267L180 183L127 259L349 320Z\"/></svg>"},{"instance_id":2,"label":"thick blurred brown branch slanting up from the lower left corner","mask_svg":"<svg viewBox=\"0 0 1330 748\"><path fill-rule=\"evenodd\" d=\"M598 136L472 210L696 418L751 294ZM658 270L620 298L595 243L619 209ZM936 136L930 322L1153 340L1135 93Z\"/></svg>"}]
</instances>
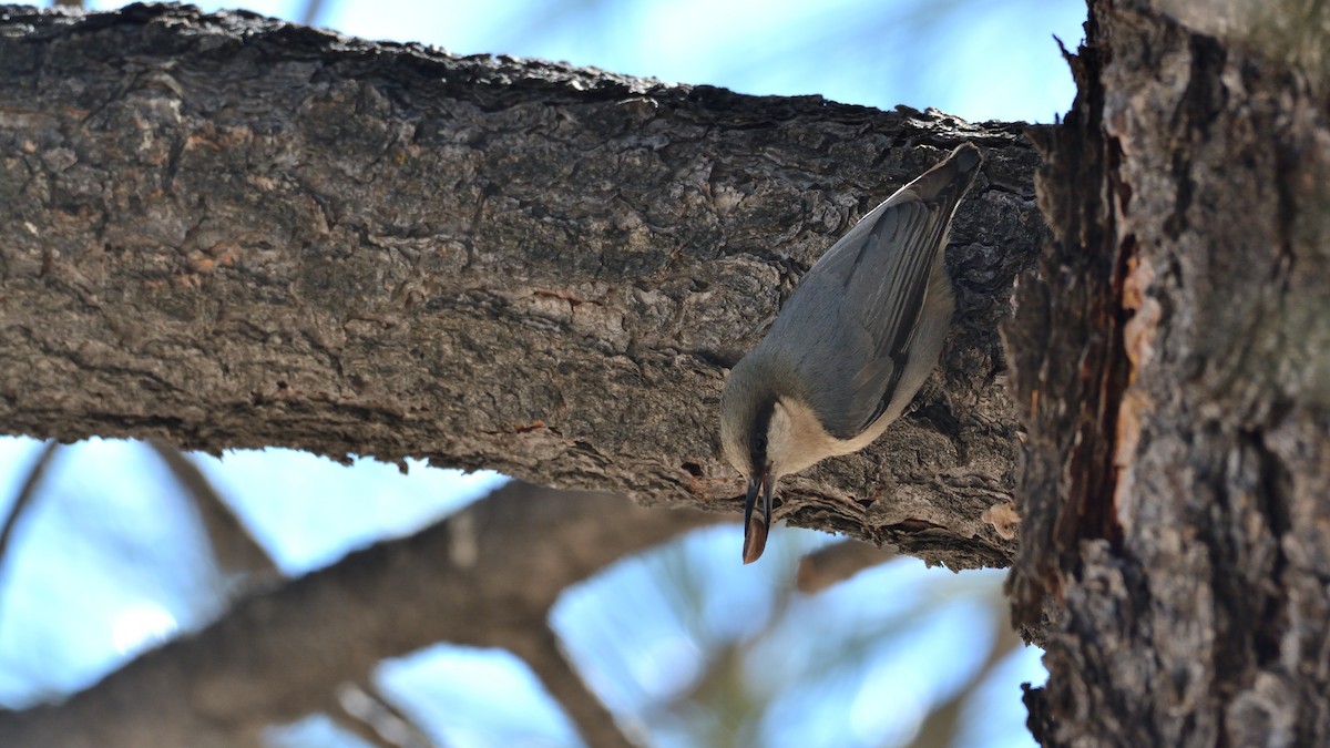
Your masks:
<instances>
[{"instance_id":1,"label":"thick blurred brown branch slanting up from the lower left corner","mask_svg":"<svg viewBox=\"0 0 1330 748\"><path fill-rule=\"evenodd\" d=\"M511 483L411 538L247 598L64 704L0 716L0 744L245 744L329 705L338 684L384 657L442 640L528 640L569 584L716 520Z\"/></svg>"}]
</instances>

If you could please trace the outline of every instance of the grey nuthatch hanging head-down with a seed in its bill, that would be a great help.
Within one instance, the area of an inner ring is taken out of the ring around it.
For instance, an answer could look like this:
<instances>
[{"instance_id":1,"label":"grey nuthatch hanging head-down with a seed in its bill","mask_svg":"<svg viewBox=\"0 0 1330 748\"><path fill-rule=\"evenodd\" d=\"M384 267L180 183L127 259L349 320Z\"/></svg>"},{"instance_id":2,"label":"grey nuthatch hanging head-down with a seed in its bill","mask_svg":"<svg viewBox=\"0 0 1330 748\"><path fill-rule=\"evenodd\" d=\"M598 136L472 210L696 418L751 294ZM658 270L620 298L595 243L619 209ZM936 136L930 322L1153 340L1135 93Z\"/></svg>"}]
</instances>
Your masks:
<instances>
[{"instance_id":1,"label":"grey nuthatch hanging head-down with a seed in its bill","mask_svg":"<svg viewBox=\"0 0 1330 748\"><path fill-rule=\"evenodd\" d=\"M936 366L955 310L947 234L982 165L979 149L962 144L874 208L730 369L721 449L747 479L745 564L766 548L781 478L871 445Z\"/></svg>"}]
</instances>

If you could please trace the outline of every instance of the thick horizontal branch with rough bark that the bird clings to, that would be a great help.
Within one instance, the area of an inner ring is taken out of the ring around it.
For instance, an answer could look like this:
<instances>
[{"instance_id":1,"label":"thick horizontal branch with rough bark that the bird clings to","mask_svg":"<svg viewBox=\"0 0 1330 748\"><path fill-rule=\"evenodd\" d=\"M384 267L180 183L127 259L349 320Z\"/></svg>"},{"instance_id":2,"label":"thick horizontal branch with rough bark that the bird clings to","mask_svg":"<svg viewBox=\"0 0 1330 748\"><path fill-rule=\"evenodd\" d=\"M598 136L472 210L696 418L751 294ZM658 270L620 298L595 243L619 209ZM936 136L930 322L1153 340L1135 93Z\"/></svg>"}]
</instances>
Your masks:
<instances>
[{"instance_id":1,"label":"thick horizontal branch with rough bark that the bird clings to","mask_svg":"<svg viewBox=\"0 0 1330 748\"><path fill-rule=\"evenodd\" d=\"M733 510L726 366L837 236L970 140L988 164L955 225L942 371L875 449L785 482L777 514L1005 564L1020 445L996 327L1043 230L1021 130L246 13L8 7L0 423Z\"/></svg>"}]
</instances>

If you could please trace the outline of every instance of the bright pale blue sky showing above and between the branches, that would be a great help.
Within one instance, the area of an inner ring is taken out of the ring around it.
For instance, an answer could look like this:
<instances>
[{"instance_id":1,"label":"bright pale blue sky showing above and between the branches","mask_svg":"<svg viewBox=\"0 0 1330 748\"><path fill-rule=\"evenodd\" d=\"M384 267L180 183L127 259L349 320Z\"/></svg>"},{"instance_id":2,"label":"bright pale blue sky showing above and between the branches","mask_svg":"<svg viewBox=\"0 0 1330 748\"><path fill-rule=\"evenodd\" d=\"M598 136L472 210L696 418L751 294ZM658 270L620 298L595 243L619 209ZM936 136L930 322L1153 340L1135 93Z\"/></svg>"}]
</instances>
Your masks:
<instances>
[{"instance_id":1,"label":"bright pale blue sky showing above and between the branches","mask_svg":"<svg viewBox=\"0 0 1330 748\"><path fill-rule=\"evenodd\" d=\"M247 7L295 19L305 4ZM325 4L315 24L743 93L818 93L878 108L936 106L974 121L1051 122L1075 93L1052 37L1075 47L1084 15L1083 3L1067 0L344 0ZM0 439L0 506L15 496L37 449L29 439ZM407 476L367 461L347 468L283 450L198 459L287 574L408 534L501 482L419 465ZM94 441L59 461L0 568L5 704L86 685L142 647L205 624L221 604L201 530L152 454ZM734 563L737 526L698 532L568 591L552 626L621 719L650 723L654 745L689 745L696 732L640 715L686 688L708 652L733 646L745 648L749 691L779 709L770 713L803 715L761 719L753 729L762 744L815 745L831 736L839 745L907 744L930 704L979 667L992 616L1003 610L992 599L1001 575L954 575L900 559L819 595L791 595L799 552L826 542L815 532L778 532L769 558L750 568ZM690 618L680 615L662 570L698 580ZM767 638L747 642L737 622L750 619L735 610L766 611ZM841 655L806 639L823 628L831 644L864 631L880 636L857 644L857 668L825 676L821 663ZM459 680L458 672L468 676ZM1041 677L1036 651L1004 660L967 701L963 744L1031 745L1019 683ZM440 644L384 663L376 680L450 745L577 744L531 673L501 652ZM326 719L271 741L359 744Z\"/></svg>"}]
</instances>

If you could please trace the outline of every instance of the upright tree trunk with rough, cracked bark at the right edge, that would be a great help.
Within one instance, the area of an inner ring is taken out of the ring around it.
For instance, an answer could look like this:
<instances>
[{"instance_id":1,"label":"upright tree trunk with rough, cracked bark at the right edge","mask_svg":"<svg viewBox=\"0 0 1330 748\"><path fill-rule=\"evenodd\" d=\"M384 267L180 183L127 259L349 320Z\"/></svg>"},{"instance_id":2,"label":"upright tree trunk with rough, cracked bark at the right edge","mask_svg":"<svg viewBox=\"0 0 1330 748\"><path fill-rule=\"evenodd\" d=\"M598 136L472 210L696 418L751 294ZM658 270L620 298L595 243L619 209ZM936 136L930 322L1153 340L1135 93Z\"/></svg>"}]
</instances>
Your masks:
<instances>
[{"instance_id":1,"label":"upright tree trunk with rough, cracked bark at the right edge","mask_svg":"<svg viewBox=\"0 0 1330 748\"><path fill-rule=\"evenodd\" d=\"M1044 745L1330 744L1330 4L1091 4L1007 329Z\"/></svg>"}]
</instances>

